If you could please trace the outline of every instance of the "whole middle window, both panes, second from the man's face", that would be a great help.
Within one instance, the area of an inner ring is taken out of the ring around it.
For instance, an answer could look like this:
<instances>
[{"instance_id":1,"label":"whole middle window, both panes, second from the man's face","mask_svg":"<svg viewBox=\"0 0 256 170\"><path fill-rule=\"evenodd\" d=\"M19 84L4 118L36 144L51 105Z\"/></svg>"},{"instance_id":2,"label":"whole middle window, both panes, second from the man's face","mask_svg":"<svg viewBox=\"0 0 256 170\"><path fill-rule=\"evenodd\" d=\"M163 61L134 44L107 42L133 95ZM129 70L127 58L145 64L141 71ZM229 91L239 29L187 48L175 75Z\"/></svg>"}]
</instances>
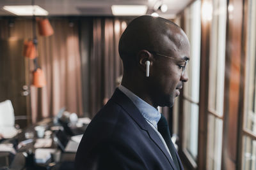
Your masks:
<instances>
[{"instance_id":1,"label":"whole middle window, both panes, second from the man's face","mask_svg":"<svg viewBox=\"0 0 256 170\"><path fill-rule=\"evenodd\" d=\"M211 3L210 3L211 2ZM227 1L207 1L212 6L210 57L209 57L209 99L207 132L207 169L221 169L221 148L223 134L223 100L225 81L225 39L227 22ZM206 12L206 11L205 11Z\"/></svg>"}]
</instances>

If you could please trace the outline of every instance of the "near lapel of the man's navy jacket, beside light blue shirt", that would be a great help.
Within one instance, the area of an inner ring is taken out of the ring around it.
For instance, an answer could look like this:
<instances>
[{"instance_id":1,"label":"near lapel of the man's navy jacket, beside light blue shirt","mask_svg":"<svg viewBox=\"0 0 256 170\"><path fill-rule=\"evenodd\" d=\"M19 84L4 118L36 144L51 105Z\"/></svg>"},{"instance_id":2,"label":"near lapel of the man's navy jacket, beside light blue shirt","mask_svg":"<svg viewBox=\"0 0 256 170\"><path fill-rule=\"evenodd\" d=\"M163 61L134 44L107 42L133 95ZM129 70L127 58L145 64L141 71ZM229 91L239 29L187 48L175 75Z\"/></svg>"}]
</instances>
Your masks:
<instances>
[{"instance_id":1,"label":"near lapel of the man's navy jacket, beside light blue shirt","mask_svg":"<svg viewBox=\"0 0 256 170\"><path fill-rule=\"evenodd\" d=\"M141 127L141 129L148 132L148 136L150 137L150 139L152 139L152 141L154 141L154 143L161 150L161 152L163 152L173 169L176 169L172 158L164 147L164 144L159 138L158 134L154 131L154 129L152 129L152 127L150 127L150 125L147 123L143 115L140 113L134 103L132 103L129 97L127 97L121 90L116 89L111 99L113 99L115 103L119 104L122 108L124 108L124 110Z\"/></svg>"}]
</instances>

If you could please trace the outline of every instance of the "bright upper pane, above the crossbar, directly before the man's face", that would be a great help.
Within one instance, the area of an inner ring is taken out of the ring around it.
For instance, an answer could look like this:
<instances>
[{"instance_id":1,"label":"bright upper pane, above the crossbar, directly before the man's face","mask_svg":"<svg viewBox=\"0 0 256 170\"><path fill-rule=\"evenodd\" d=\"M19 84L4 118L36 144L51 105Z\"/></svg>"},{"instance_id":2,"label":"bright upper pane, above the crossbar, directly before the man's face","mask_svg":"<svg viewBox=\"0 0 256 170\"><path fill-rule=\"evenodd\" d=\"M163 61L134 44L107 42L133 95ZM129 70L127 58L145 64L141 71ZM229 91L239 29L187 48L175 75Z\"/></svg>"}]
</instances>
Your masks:
<instances>
[{"instance_id":1,"label":"bright upper pane, above the crossbar, directly before the man's face","mask_svg":"<svg viewBox=\"0 0 256 170\"><path fill-rule=\"evenodd\" d=\"M200 82L200 37L201 37L201 20L200 20L201 1L195 1L185 10L184 30L190 41L190 55L187 74L189 81L184 83L184 96L191 101L199 102L199 82Z\"/></svg>"}]
</instances>

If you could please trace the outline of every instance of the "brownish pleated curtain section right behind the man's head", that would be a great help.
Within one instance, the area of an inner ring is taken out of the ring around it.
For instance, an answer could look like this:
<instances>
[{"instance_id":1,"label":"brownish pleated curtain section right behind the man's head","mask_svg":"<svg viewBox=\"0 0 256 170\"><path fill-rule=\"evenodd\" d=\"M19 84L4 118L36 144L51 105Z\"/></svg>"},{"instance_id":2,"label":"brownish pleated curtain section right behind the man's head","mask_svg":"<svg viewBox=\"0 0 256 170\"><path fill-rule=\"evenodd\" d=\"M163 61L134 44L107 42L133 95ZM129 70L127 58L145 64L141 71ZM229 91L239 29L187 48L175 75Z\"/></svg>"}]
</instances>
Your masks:
<instances>
[{"instance_id":1,"label":"brownish pleated curtain section right behind the man's head","mask_svg":"<svg viewBox=\"0 0 256 170\"><path fill-rule=\"evenodd\" d=\"M92 43L89 57L89 108L88 116L93 117L109 99L122 76L122 60L118 54L118 42L127 26L126 20L117 18L93 18Z\"/></svg>"}]
</instances>

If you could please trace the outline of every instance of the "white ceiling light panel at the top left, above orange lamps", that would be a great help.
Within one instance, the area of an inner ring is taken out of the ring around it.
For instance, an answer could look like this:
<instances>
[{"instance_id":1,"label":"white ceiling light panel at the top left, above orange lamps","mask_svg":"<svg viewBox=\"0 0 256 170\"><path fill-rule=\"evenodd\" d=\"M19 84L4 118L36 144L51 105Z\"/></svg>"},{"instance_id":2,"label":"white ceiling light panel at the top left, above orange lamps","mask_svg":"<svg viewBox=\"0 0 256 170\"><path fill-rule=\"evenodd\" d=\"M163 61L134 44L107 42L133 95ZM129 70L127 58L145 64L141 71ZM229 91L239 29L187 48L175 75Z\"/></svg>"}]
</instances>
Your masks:
<instances>
[{"instance_id":1,"label":"white ceiling light panel at the top left, above orange lamps","mask_svg":"<svg viewBox=\"0 0 256 170\"><path fill-rule=\"evenodd\" d=\"M15 15L48 15L48 11L38 5L4 6L3 9Z\"/></svg>"}]
</instances>

